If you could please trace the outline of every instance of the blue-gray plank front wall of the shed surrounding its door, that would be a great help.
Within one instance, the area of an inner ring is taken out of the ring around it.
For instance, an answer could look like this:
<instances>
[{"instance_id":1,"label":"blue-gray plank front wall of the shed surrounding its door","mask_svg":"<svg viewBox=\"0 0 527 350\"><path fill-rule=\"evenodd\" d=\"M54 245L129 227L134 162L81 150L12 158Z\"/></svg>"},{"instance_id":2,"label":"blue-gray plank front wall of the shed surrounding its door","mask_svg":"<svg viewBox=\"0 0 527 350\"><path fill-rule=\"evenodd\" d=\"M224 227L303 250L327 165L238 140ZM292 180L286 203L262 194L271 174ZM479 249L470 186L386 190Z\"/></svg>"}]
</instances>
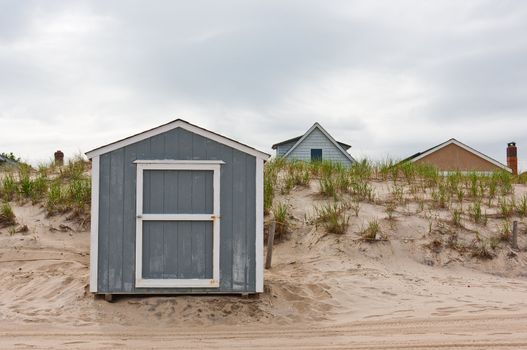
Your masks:
<instances>
[{"instance_id":1,"label":"blue-gray plank front wall of the shed surrounding its door","mask_svg":"<svg viewBox=\"0 0 527 350\"><path fill-rule=\"evenodd\" d=\"M225 162L220 174L219 288L135 287L136 165L133 162L137 159ZM99 293L255 292L254 156L176 128L101 155L99 174Z\"/></svg>"}]
</instances>

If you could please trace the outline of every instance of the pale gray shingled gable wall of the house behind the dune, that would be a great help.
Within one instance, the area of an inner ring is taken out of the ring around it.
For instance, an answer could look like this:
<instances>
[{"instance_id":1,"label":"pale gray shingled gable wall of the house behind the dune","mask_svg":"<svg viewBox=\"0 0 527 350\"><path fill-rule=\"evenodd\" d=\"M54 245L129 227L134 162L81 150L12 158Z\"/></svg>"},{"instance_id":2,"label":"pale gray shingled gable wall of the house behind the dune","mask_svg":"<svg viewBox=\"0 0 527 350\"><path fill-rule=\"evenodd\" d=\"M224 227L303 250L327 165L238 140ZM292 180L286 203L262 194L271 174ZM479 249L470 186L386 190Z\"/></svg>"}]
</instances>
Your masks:
<instances>
[{"instance_id":1,"label":"pale gray shingled gable wall of the house behind the dune","mask_svg":"<svg viewBox=\"0 0 527 350\"><path fill-rule=\"evenodd\" d=\"M311 149L322 149L322 159L332 162L351 165L352 162L319 129L314 129L293 152L288 159L298 159L306 162L311 161Z\"/></svg>"}]
</instances>

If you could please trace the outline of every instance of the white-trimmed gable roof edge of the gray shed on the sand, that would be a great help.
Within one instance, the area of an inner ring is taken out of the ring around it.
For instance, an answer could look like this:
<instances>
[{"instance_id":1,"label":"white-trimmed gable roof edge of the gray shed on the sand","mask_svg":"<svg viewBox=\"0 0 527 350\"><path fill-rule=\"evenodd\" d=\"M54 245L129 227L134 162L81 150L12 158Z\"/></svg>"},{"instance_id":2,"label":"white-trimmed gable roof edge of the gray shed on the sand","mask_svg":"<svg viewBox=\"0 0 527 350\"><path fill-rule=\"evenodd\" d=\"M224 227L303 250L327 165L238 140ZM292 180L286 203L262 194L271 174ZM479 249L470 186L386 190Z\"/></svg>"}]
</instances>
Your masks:
<instances>
[{"instance_id":1,"label":"white-trimmed gable roof edge of the gray shed on the sand","mask_svg":"<svg viewBox=\"0 0 527 350\"><path fill-rule=\"evenodd\" d=\"M221 144L224 144L226 146L235 148L235 149L237 149L237 150L239 150L241 152L244 152L244 153L250 154L252 156L255 156L256 158L261 158L263 160L267 160L270 157L269 154L264 153L262 151L259 151L256 148L247 146L247 145L245 145L243 143L240 143L238 141L235 141L235 140L230 139L228 137L225 137L223 135L217 134L217 133L212 132L210 130L203 129L203 128L201 128L201 127L199 127L197 125L191 124L191 123L189 123L189 122L187 122L187 121L185 121L183 119L176 119L176 120L173 120L173 121L171 121L169 123L166 123L166 124L160 125L158 127L155 127L153 129L146 130L146 131L143 131L143 132L141 132L139 134L135 134L135 135L126 137L124 139L121 139L121 140L109 143L107 145L95 148L95 149L93 149L91 151L86 152L86 156L88 158L93 158L93 157L99 156L101 154L105 154L105 153L111 152L113 150L116 150L116 149L119 149L119 148L122 148L122 147L125 147L125 146L128 146L128 145L131 145L133 143L145 140L147 138L150 138L150 137L162 134L164 132L167 132L167 131L170 131L170 130L173 130L173 129L176 129L176 128L185 129L185 130L187 130L189 132L192 132L194 134L206 137L206 138L211 139L213 141L216 141L218 143L221 143Z\"/></svg>"}]
</instances>

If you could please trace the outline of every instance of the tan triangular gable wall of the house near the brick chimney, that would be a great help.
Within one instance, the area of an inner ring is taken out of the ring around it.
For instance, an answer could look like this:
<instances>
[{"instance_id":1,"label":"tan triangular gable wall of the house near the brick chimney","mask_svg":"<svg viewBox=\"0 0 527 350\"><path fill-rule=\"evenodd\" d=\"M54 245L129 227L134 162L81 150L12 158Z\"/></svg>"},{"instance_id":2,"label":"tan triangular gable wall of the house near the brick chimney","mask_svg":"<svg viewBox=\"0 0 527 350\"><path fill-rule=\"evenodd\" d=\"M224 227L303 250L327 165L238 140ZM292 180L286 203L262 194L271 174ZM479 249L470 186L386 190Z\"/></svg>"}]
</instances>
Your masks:
<instances>
[{"instance_id":1,"label":"tan triangular gable wall of the house near the brick chimney","mask_svg":"<svg viewBox=\"0 0 527 350\"><path fill-rule=\"evenodd\" d=\"M447 145L416 161L431 164L441 171L498 171L500 167L455 144Z\"/></svg>"}]
</instances>

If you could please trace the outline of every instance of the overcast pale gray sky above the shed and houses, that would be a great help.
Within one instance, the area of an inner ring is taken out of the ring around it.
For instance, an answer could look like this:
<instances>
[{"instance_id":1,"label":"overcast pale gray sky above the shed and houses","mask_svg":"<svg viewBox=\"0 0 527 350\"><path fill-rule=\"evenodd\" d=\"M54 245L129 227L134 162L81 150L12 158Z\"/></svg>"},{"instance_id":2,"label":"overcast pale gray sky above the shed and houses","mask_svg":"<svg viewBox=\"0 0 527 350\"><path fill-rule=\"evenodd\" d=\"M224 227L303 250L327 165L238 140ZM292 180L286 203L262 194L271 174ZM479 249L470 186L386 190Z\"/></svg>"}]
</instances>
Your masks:
<instances>
[{"instance_id":1,"label":"overcast pale gray sky above the shed and houses","mask_svg":"<svg viewBox=\"0 0 527 350\"><path fill-rule=\"evenodd\" d=\"M183 118L271 153L449 138L527 167L527 1L0 0L0 152L33 163Z\"/></svg>"}]
</instances>

